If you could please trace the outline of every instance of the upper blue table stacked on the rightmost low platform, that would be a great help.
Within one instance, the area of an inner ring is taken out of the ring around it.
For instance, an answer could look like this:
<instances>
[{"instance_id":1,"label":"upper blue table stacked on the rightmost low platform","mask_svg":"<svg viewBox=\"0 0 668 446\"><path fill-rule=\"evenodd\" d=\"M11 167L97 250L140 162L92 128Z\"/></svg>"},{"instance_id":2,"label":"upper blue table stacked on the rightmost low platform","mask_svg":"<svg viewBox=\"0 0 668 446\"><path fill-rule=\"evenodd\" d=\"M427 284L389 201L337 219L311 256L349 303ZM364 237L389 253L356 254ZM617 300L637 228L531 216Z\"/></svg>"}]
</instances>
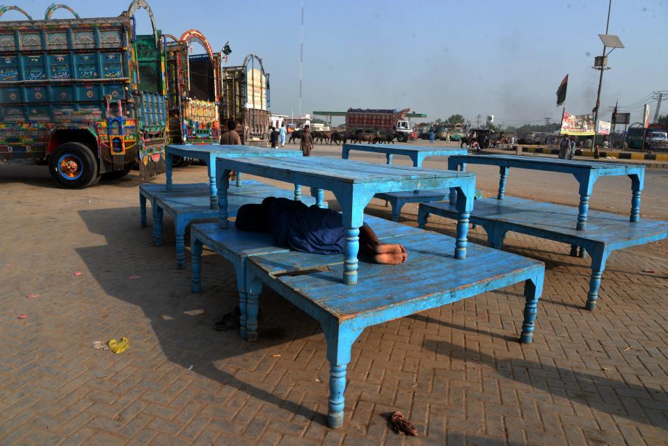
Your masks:
<instances>
[{"instance_id":1,"label":"upper blue table stacked on the rightmost low platform","mask_svg":"<svg viewBox=\"0 0 668 446\"><path fill-rule=\"evenodd\" d=\"M447 160L447 168L457 170L461 167L466 169L466 164L486 164L499 166L500 181L497 198L505 196L506 180L508 170L511 167L545 170L549 172L568 173L575 177L580 184L580 206L578 207L577 223L575 228L584 230L587 228L587 216L589 212L589 198L594 191L594 184L600 177L628 176L631 180L631 212L629 221L639 221L640 216L640 194L642 193L645 166L639 164L607 163L601 161L575 161L559 158L523 157L521 155L469 155L466 157L454 156ZM454 200L454 193L450 195Z\"/></svg>"}]
</instances>

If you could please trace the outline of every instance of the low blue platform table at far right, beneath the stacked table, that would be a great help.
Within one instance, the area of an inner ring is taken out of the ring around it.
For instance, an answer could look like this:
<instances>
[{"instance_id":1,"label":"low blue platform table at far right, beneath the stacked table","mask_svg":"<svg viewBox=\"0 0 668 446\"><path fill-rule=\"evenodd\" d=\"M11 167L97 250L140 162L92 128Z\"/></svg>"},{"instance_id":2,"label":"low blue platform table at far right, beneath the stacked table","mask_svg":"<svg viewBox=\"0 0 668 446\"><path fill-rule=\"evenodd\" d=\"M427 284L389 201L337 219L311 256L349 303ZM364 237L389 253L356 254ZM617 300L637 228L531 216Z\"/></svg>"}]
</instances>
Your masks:
<instances>
[{"instance_id":1,"label":"low blue platform table at far right, beneath the stacked table","mask_svg":"<svg viewBox=\"0 0 668 446\"><path fill-rule=\"evenodd\" d=\"M459 213L447 202L422 203L417 212L420 227L424 228L429 214L459 218ZM585 308L594 310L601 276L610 253L665 239L668 237L668 222L647 218L630 222L627 217L618 214L591 211L587 230L583 231L573 228L573 218L577 215L578 208L571 206L516 197L504 200L484 198L475 202L470 221L484 228L488 243L493 248L501 248L508 231L582 246L591 256L591 278Z\"/></svg>"}]
</instances>

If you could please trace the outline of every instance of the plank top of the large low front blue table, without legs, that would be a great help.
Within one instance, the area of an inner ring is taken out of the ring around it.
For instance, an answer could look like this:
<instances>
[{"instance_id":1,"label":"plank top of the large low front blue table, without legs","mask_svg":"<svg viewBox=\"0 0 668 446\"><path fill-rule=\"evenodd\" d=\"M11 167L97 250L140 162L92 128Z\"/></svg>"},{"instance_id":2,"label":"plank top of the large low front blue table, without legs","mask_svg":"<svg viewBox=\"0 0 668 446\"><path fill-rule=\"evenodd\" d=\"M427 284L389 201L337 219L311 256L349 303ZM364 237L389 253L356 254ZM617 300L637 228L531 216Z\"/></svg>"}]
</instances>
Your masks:
<instances>
[{"instance_id":1,"label":"plank top of the large low front blue table, without legs","mask_svg":"<svg viewBox=\"0 0 668 446\"><path fill-rule=\"evenodd\" d=\"M413 314L463 296L479 294L486 289L502 287L506 278L509 283L515 283L518 280L514 276L543 268L543 262L538 260L476 244L469 245L467 260L455 260L452 256L454 238L436 232L408 234L399 241L408 253L406 263L381 265L360 262L360 274L364 280L356 287L347 287L340 282L343 268L340 256L276 253L252 257L250 262L269 274L280 270L283 273L323 269L310 273L279 274L276 280L340 321L386 311L392 312L395 317ZM422 307L434 296L439 296L438 305Z\"/></svg>"}]
</instances>

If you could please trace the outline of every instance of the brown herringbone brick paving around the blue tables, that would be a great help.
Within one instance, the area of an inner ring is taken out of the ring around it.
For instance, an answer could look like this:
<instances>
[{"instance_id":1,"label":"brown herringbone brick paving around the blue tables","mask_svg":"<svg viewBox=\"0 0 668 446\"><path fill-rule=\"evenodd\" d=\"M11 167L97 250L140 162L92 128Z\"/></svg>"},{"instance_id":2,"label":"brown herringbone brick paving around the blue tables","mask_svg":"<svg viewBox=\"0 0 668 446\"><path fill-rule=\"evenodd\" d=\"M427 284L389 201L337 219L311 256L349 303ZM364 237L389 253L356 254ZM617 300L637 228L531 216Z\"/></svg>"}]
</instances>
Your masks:
<instances>
[{"instance_id":1,"label":"brown herringbone brick paving around the blue tables","mask_svg":"<svg viewBox=\"0 0 668 446\"><path fill-rule=\"evenodd\" d=\"M614 253L591 313L587 260L511 234L504 249L548 267L534 343L516 342L518 287L367 329L333 431L315 321L264 292L260 341L212 330L234 308L234 273L209 253L204 292L191 294L170 225L160 248L138 227L136 178L63 191L26 169L0 183L0 445L668 443L666 244ZM372 212L388 216L381 204ZM90 348L122 335L125 353ZM397 409L420 437L388 429Z\"/></svg>"}]
</instances>

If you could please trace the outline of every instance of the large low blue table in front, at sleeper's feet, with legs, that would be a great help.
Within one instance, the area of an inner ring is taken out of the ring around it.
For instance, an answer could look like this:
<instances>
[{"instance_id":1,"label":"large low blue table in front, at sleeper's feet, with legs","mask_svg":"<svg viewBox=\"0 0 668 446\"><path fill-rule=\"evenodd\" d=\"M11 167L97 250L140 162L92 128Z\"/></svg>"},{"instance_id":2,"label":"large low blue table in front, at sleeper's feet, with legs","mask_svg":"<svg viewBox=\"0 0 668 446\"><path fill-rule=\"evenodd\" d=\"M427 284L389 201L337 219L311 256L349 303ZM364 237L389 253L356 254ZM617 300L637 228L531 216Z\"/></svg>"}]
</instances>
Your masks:
<instances>
[{"instance_id":1,"label":"large low blue table in front, at sleeper's feet, with legs","mask_svg":"<svg viewBox=\"0 0 668 446\"><path fill-rule=\"evenodd\" d=\"M246 330L257 337L257 301L262 284L320 322L330 362L329 427L343 424L346 369L364 328L459 301L518 282L525 283L521 342L531 342L545 267L542 262L470 244L468 258L452 256L455 239L435 232L394 237L406 247L402 265L360 264L357 287L338 280L344 258L307 253L272 253L246 262ZM503 255L499 255L503 254ZM319 270L319 271L317 271Z\"/></svg>"}]
</instances>

